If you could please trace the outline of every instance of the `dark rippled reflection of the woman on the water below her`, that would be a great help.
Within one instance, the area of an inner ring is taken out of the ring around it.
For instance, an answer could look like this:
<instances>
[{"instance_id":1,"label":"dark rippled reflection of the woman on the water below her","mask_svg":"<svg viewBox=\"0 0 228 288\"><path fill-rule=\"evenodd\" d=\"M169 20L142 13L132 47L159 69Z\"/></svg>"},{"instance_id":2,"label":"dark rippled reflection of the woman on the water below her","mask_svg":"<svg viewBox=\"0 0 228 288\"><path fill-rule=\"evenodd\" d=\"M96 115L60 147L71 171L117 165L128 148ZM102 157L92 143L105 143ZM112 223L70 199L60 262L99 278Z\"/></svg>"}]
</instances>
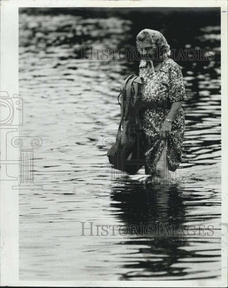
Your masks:
<instances>
[{"instance_id":1,"label":"dark rippled reflection of the woman on the water below her","mask_svg":"<svg viewBox=\"0 0 228 288\"><path fill-rule=\"evenodd\" d=\"M111 206L121 208L123 212L117 215L117 218L120 218L126 226L136 225L138 227L140 225L154 225L155 228L158 228L159 226L156 226L156 222L158 221L157 223L159 223L161 221L163 225L167 225L168 229L173 224L178 226L186 221L183 200L176 189L151 190L152 187L150 186L142 187L142 185L138 185L138 187L135 186L134 191L123 189L116 193L112 192L111 198L120 203ZM132 268L133 270L143 268L141 275L138 275L139 277L147 273L148 277L156 277L159 276L159 273L156 274L157 272L165 272L164 276L173 276L173 273L177 276L187 274L183 272L184 268L176 269L170 267L183 256L183 251L179 248L186 245L186 240L180 240L179 237L175 236L159 236L160 234L163 235L162 230L150 228L147 233L152 235L154 232L158 236L151 237L148 235L139 237L142 238L140 240L137 238L134 241L126 241L126 245L137 245L138 243L149 247L140 248L138 251L138 253L145 255L147 261L125 264L125 268ZM138 233L141 234L140 228ZM135 256L137 257L137 255ZM156 258L160 259L156 260ZM123 275L122 280L127 280L129 277L131 276Z\"/></svg>"}]
</instances>

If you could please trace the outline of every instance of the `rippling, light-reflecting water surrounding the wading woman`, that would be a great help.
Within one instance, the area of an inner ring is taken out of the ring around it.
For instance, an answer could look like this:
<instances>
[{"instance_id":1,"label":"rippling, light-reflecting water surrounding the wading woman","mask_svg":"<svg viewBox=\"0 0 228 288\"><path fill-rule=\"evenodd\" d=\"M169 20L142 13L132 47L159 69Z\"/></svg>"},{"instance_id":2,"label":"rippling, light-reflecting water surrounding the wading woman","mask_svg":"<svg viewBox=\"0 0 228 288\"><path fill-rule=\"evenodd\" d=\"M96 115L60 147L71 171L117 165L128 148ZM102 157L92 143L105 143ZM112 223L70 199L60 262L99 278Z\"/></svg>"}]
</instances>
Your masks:
<instances>
[{"instance_id":1,"label":"rippling, light-reflecting water surrounding the wading woman","mask_svg":"<svg viewBox=\"0 0 228 288\"><path fill-rule=\"evenodd\" d=\"M146 181L143 168L142 179L113 177L103 145L105 137L115 139L119 85L138 73L136 65L79 55L80 45L126 45L131 29L130 20L117 17L20 14L19 132L43 141L34 149L34 183L43 189L20 190L19 196L20 280L221 277L220 27L202 26L193 36L198 49L215 50L215 60L178 63L188 96L186 142L176 182L162 189ZM89 222L93 230L80 236ZM184 232L193 226L190 235L156 235L151 227L144 235L124 233L159 222ZM107 236L102 225L110 226Z\"/></svg>"}]
</instances>

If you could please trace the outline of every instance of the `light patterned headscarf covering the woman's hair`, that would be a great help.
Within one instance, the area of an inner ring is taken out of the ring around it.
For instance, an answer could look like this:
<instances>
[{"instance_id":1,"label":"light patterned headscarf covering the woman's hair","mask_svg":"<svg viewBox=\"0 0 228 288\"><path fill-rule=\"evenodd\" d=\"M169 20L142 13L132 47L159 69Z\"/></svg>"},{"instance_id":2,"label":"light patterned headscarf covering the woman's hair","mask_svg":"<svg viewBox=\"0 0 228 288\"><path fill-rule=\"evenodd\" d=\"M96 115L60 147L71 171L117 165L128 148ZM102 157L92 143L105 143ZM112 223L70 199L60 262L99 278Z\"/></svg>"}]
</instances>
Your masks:
<instances>
[{"instance_id":1,"label":"light patterned headscarf covering the woman's hair","mask_svg":"<svg viewBox=\"0 0 228 288\"><path fill-rule=\"evenodd\" d=\"M150 40L153 49L157 48L158 57L160 59L167 58L167 55L170 55L170 46L167 43L165 37L159 31L151 29L143 29L140 31L136 37L137 46L139 46L139 38L141 37Z\"/></svg>"}]
</instances>

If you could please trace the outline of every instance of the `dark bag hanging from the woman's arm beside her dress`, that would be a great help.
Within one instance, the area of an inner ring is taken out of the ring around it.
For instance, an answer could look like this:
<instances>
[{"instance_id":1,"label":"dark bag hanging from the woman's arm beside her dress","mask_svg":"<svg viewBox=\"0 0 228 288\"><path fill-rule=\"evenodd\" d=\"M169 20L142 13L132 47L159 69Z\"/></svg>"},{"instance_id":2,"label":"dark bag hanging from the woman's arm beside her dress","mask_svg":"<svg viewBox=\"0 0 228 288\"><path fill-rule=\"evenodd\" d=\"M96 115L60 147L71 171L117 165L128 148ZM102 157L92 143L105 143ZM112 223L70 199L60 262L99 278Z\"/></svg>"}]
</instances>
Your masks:
<instances>
[{"instance_id":1,"label":"dark bag hanging from the woman's arm beside her dress","mask_svg":"<svg viewBox=\"0 0 228 288\"><path fill-rule=\"evenodd\" d=\"M132 76L135 75L131 75L127 79L131 80L134 79L132 78ZM125 82L127 81L127 79L125 80ZM130 84L132 84L132 82L130 82ZM135 96L136 91L133 89L135 87L133 87L133 85L131 87L132 87L131 92L133 92ZM141 86L138 87L138 89L140 88ZM112 147L109 148L107 156L109 158L110 164L113 165L113 168L130 174L134 174L138 172L138 170L142 168L142 166L144 165L143 164L144 155L142 149L140 149L141 145L140 136L142 130L138 129L139 126L137 126L135 121L132 120L131 118L132 105L134 102L136 102L136 96L135 98L131 97L129 96L130 94L126 92L130 92L129 88L128 91L122 89L120 93L122 94L121 102L123 104L123 101L128 101L130 102L129 103L130 105L128 105L128 108L124 108L123 106L121 106L121 121L119 124L116 141L115 143L113 143ZM118 96L118 102L119 102L119 96ZM121 132L121 125L123 119L125 121L125 127L123 132Z\"/></svg>"}]
</instances>

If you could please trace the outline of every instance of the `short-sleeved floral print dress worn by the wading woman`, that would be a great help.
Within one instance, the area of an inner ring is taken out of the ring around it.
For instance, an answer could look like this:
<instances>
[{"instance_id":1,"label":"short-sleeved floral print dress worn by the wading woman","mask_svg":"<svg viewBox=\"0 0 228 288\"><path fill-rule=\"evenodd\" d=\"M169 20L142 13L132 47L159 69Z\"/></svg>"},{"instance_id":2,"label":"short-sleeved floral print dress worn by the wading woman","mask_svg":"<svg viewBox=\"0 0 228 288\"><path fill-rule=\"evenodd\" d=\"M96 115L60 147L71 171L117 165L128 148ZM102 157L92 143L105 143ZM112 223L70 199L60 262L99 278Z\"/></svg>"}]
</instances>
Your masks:
<instances>
[{"instance_id":1,"label":"short-sleeved floral print dress worn by the wading woman","mask_svg":"<svg viewBox=\"0 0 228 288\"><path fill-rule=\"evenodd\" d=\"M145 174L154 175L156 164L161 156L165 141L159 137L161 126L169 112L172 102L186 98L183 76L179 65L170 58L163 60L158 71L150 73L147 62L140 61L139 76L144 79L144 111L142 114L142 140L146 159ZM168 166L175 171L181 163L184 141L185 117L183 109L171 124L171 136L166 137Z\"/></svg>"}]
</instances>

